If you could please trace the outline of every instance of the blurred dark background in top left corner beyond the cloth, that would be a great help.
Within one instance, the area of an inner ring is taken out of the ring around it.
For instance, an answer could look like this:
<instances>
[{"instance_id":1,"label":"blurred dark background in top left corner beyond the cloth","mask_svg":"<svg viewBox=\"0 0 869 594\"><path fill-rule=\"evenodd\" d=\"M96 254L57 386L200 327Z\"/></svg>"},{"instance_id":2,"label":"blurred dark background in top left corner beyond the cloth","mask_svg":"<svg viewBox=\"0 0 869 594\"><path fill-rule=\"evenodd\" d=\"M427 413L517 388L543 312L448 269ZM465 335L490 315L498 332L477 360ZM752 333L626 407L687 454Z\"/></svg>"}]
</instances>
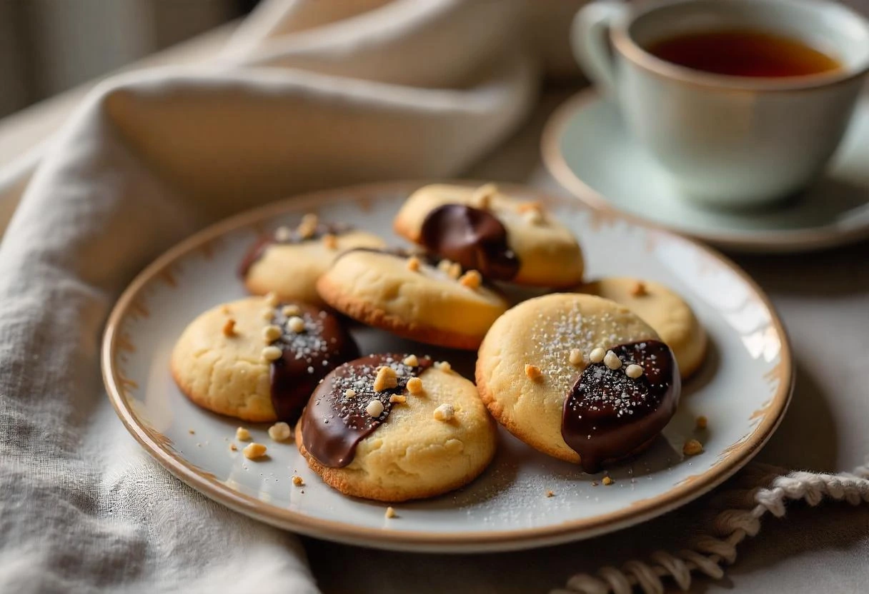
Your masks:
<instances>
[{"instance_id":1,"label":"blurred dark background in top left corner beyond the cloth","mask_svg":"<svg viewBox=\"0 0 869 594\"><path fill-rule=\"evenodd\" d=\"M0 0L0 117L243 16L257 2Z\"/></svg>"}]
</instances>

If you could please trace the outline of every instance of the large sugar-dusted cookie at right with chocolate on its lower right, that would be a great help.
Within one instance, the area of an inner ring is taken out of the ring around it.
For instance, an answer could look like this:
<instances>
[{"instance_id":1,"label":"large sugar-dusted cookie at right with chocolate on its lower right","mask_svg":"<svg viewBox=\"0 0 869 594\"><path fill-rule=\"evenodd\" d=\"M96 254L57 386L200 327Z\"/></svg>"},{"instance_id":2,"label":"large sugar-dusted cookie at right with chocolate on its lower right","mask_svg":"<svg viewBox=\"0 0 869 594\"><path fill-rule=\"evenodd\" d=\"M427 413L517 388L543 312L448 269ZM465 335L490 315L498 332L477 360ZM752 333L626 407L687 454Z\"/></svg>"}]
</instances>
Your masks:
<instances>
[{"instance_id":1,"label":"large sugar-dusted cookie at right with chocolate on its lower right","mask_svg":"<svg viewBox=\"0 0 869 594\"><path fill-rule=\"evenodd\" d=\"M501 425L587 472L647 446L673 417L673 352L627 307L585 294L527 300L480 347L477 387Z\"/></svg>"}]
</instances>

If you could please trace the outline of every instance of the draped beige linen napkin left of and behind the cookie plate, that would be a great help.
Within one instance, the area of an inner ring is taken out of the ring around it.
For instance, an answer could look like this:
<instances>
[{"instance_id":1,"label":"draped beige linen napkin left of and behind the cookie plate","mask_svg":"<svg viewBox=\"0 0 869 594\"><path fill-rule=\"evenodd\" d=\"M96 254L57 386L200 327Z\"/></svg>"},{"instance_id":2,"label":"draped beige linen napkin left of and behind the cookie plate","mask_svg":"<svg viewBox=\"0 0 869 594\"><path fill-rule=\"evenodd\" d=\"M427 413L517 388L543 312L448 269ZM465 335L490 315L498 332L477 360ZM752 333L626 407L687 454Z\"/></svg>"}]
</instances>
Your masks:
<instances>
[{"instance_id":1,"label":"draped beige linen napkin left of and behind the cookie plate","mask_svg":"<svg viewBox=\"0 0 869 594\"><path fill-rule=\"evenodd\" d=\"M156 465L103 393L117 294L217 217L311 188L456 174L536 87L520 3L262 3L199 69L100 85L0 244L0 591L316 591L292 535Z\"/></svg>"}]
</instances>

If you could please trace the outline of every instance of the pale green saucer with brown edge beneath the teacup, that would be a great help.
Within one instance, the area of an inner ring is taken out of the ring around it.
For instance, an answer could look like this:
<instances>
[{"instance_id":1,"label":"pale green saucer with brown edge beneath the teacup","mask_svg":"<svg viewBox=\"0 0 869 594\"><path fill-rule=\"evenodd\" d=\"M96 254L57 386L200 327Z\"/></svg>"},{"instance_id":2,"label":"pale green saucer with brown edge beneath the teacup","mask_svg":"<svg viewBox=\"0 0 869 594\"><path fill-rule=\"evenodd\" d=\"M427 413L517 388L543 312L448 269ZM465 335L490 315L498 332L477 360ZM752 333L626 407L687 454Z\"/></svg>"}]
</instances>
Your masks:
<instances>
[{"instance_id":1,"label":"pale green saucer with brown edge beneath the teacup","mask_svg":"<svg viewBox=\"0 0 869 594\"><path fill-rule=\"evenodd\" d=\"M614 103L592 89L556 110L542 151L550 173L589 206L733 251L801 252L869 237L869 95L826 174L770 208L727 211L680 197Z\"/></svg>"}]
</instances>

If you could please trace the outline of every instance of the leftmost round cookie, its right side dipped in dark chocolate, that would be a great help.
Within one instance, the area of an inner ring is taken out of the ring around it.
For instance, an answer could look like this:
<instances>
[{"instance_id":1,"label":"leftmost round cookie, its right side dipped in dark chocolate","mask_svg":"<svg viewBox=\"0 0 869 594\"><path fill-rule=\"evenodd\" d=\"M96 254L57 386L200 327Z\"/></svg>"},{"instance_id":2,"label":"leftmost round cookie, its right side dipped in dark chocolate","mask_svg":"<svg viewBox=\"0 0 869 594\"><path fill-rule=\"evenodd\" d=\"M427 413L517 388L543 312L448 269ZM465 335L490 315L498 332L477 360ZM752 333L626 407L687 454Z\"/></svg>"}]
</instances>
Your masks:
<instances>
[{"instance_id":1,"label":"leftmost round cookie, its right side dipped in dark chocolate","mask_svg":"<svg viewBox=\"0 0 869 594\"><path fill-rule=\"evenodd\" d=\"M201 314L176 342L170 367L182 392L209 411L292 424L317 383L358 356L334 314L268 295Z\"/></svg>"}]
</instances>

